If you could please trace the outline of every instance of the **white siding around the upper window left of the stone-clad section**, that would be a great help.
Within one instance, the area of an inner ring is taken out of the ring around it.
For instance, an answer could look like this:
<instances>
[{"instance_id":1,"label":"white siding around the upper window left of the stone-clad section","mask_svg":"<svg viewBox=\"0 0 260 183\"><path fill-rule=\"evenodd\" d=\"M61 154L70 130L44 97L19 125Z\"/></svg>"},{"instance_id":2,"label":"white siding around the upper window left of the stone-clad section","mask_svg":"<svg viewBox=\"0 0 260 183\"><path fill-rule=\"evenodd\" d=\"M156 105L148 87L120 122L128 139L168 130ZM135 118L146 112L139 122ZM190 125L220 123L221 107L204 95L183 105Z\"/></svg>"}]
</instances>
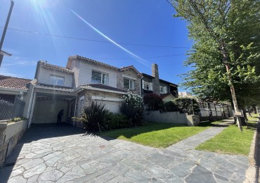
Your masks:
<instances>
[{"instance_id":1,"label":"white siding around the upper window left of the stone-clad section","mask_svg":"<svg viewBox=\"0 0 260 183\"><path fill-rule=\"evenodd\" d=\"M117 71L105 68L101 65L94 65L92 63L80 62L79 63L79 85L91 84L92 70L108 74L108 85L110 87L117 87ZM77 82L76 82L77 83Z\"/></svg>"}]
</instances>

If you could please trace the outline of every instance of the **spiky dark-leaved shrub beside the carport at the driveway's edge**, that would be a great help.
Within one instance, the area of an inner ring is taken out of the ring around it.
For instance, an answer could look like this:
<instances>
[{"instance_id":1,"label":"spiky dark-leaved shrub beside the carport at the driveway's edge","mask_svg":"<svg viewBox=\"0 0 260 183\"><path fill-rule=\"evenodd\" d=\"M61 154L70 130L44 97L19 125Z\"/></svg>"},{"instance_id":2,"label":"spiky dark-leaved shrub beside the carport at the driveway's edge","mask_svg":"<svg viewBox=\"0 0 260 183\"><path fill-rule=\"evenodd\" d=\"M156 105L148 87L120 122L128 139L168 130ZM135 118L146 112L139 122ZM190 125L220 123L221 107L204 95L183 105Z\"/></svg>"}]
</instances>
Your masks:
<instances>
[{"instance_id":1,"label":"spiky dark-leaved shrub beside the carport at the driveway's edge","mask_svg":"<svg viewBox=\"0 0 260 183\"><path fill-rule=\"evenodd\" d=\"M105 108L105 103L91 102L91 106L84 108L82 115L77 120L82 122L82 125L89 131L105 130L104 124L105 115L108 114L108 109Z\"/></svg>"}]
</instances>

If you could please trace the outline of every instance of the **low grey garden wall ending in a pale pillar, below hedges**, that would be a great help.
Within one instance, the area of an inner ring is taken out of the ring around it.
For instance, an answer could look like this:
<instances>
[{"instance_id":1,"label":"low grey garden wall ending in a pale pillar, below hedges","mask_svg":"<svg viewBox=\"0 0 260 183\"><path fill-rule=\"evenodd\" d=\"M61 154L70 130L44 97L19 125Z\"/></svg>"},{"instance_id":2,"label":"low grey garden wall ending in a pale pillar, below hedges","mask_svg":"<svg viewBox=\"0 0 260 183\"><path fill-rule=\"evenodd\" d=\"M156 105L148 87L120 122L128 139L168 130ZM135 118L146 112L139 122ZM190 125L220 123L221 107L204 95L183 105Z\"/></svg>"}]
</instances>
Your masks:
<instances>
[{"instance_id":1,"label":"low grey garden wall ending in a pale pillar, below hedges","mask_svg":"<svg viewBox=\"0 0 260 183\"><path fill-rule=\"evenodd\" d=\"M145 121L163 122L172 124L183 124L194 126L198 125L200 118L197 115L187 115L180 112L144 111L143 119Z\"/></svg>"}]
</instances>

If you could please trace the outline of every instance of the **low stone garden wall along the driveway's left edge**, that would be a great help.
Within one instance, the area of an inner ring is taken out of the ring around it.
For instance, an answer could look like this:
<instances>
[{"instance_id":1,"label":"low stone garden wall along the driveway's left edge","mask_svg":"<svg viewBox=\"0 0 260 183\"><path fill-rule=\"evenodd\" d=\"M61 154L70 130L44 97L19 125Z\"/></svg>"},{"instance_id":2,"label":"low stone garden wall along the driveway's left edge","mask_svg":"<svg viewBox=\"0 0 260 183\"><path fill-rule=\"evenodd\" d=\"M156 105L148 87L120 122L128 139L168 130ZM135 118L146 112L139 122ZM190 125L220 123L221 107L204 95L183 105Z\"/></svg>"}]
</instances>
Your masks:
<instances>
[{"instance_id":1,"label":"low stone garden wall along the driveway's left edge","mask_svg":"<svg viewBox=\"0 0 260 183\"><path fill-rule=\"evenodd\" d=\"M0 167L27 129L27 120L0 122Z\"/></svg>"}]
</instances>

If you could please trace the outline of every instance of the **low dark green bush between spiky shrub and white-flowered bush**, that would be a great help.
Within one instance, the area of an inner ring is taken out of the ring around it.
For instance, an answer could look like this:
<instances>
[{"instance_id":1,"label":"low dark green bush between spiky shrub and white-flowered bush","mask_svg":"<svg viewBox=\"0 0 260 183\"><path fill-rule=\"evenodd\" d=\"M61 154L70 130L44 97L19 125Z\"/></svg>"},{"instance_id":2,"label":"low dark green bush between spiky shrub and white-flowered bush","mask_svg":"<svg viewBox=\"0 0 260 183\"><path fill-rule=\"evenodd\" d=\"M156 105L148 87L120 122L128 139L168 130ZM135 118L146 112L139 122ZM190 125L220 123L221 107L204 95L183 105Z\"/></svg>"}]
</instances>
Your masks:
<instances>
[{"instance_id":1,"label":"low dark green bush between spiky shrub and white-flowered bush","mask_svg":"<svg viewBox=\"0 0 260 183\"><path fill-rule=\"evenodd\" d=\"M104 124L109 130L128 127L128 120L122 114L108 113L105 115Z\"/></svg>"}]
</instances>

